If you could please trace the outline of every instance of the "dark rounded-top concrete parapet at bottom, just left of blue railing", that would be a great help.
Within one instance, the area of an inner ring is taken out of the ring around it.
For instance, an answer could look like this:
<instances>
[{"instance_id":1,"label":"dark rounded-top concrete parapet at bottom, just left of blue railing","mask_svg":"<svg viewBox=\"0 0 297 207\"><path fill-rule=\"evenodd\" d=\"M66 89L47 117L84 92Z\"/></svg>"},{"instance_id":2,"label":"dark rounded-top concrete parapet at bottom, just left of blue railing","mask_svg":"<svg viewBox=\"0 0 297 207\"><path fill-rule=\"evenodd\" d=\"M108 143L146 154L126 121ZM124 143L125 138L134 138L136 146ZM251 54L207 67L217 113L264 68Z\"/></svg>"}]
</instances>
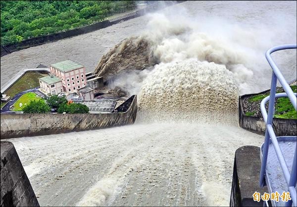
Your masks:
<instances>
[{"instance_id":1,"label":"dark rounded-top concrete parapet at bottom, just left of blue railing","mask_svg":"<svg viewBox=\"0 0 297 207\"><path fill-rule=\"evenodd\" d=\"M268 193L266 186L259 187L260 169L259 147L243 146L236 150L230 207L263 207L263 201L254 201L252 196L255 191L260 195Z\"/></svg>"}]
</instances>

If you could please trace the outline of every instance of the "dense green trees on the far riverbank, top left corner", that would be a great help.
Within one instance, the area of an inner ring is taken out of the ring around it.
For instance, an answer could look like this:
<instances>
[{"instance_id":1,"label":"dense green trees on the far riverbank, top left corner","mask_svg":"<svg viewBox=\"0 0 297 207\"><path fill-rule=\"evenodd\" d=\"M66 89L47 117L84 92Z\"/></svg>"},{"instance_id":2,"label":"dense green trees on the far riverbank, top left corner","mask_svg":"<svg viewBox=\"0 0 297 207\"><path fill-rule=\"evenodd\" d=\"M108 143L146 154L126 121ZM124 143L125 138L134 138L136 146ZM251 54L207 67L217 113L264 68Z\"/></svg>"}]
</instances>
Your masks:
<instances>
[{"instance_id":1,"label":"dense green trees on the far riverbank, top left corner","mask_svg":"<svg viewBox=\"0 0 297 207\"><path fill-rule=\"evenodd\" d=\"M1 45L74 29L136 8L134 0L1 0Z\"/></svg>"}]
</instances>

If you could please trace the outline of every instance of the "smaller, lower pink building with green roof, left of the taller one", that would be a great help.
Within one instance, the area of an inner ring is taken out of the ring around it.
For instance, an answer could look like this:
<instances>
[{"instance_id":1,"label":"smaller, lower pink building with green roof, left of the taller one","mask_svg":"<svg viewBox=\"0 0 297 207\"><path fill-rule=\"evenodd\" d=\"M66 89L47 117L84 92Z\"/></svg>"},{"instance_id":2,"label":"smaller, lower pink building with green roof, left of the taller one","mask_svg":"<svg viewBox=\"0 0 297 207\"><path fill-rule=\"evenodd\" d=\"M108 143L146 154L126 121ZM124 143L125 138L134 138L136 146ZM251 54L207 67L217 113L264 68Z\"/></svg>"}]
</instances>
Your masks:
<instances>
[{"instance_id":1,"label":"smaller, lower pink building with green roof, left of the taller one","mask_svg":"<svg viewBox=\"0 0 297 207\"><path fill-rule=\"evenodd\" d=\"M40 89L47 94L55 95L63 92L62 81L54 76L39 78Z\"/></svg>"}]
</instances>

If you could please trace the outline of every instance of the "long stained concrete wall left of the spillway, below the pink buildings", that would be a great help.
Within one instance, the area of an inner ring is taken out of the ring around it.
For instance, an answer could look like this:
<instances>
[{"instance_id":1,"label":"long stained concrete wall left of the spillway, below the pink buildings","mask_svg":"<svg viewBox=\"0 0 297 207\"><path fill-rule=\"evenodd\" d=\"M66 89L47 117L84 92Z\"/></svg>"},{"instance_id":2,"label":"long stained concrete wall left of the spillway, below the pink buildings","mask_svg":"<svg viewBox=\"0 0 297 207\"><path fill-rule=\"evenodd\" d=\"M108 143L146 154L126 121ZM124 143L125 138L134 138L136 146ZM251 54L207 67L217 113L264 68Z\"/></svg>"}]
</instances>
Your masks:
<instances>
[{"instance_id":1,"label":"long stained concrete wall left of the spillway, below the pink buildings","mask_svg":"<svg viewBox=\"0 0 297 207\"><path fill-rule=\"evenodd\" d=\"M0 139L58 134L133 124L137 115L137 97L132 96L120 106L123 107L123 105L125 105L127 110L118 113L1 114Z\"/></svg>"}]
</instances>

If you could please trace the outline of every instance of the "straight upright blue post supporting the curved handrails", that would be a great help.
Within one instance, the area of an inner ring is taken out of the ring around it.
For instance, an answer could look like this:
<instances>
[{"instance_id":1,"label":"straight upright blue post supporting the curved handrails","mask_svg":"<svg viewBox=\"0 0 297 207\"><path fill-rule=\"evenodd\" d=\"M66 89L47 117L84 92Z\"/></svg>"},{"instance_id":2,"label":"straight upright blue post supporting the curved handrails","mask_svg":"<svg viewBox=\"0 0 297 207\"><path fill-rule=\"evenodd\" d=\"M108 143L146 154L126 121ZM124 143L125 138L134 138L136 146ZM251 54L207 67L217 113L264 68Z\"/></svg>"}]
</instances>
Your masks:
<instances>
[{"instance_id":1,"label":"straight upright blue post supporting the curved handrails","mask_svg":"<svg viewBox=\"0 0 297 207\"><path fill-rule=\"evenodd\" d=\"M269 98L269 105L268 105L268 116L267 116L267 122L266 122L266 130L265 130L264 149L263 149L261 171L260 171L260 178L259 178L260 187L263 187L265 185L265 171L266 171L267 155L268 155L269 140L270 140L270 135L267 130L267 124L272 125L272 120L273 120L273 115L274 115L274 100L275 100L275 93L276 93L276 83L277 83L277 77L274 74L274 72L272 71L270 98Z\"/></svg>"}]
</instances>

